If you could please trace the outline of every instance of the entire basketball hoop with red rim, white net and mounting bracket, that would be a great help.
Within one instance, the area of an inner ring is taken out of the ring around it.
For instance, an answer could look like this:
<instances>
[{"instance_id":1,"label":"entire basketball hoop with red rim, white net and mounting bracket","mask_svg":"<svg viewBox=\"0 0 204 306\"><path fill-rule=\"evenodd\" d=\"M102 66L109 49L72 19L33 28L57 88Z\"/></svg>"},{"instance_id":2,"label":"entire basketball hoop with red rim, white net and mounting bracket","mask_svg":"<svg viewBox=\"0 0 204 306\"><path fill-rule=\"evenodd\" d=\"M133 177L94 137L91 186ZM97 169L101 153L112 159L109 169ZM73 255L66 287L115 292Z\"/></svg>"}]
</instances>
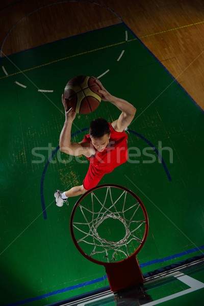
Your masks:
<instances>
[{"instance_id":1,"label":"entire basketball hoop with red rim, white net and mounting bracket","mask_svg":"<svg viewBox=\"0 0 204 306\"><path fill-rule=\"evenodd\" d=\"M115 185L84 193L71 213L72 240L82 255L103 265L113 292L143 283L136 255L148 234L148 216L139 197Z\"/></svg>"}]
</instances>

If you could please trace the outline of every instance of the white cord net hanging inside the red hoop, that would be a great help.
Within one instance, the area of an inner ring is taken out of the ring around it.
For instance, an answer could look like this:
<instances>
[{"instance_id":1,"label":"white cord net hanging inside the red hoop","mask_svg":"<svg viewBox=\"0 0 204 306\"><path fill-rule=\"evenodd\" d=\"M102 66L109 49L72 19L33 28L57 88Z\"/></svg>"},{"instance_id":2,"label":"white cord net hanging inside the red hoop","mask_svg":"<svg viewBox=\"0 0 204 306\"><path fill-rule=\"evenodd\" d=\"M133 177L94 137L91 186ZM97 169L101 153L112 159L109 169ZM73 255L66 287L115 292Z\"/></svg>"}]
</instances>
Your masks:
<instances>
[{"instance_id":1,"label":"white cord net hanging inside the red hoop","mask_svg":"<svg viewBox=\"0 0 204 306\"><path fill-rule=\"evenodd\" d=\"M140 246L146 221L139 201L131 193L108 186L84 197L72 226L75 239L89 257L117 262Z\"/></svg>"}]
</instances>

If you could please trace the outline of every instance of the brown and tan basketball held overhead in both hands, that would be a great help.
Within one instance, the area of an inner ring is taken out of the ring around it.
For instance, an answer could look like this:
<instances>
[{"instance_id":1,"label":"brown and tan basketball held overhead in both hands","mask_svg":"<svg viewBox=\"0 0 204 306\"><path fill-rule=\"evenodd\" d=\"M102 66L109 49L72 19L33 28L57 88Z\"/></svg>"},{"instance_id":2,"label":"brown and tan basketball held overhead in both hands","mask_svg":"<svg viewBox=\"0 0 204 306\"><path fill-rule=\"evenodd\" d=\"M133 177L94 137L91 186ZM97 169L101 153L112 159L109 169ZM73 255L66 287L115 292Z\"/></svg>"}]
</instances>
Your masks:
<instances>
[{"instance_id":1,"label":"brown and tan basketball held overhead in both hands","mask_svg":"<svg viewBox=\"0 0 204 306\"><path fill-rule=\"evenodd\" d=\"M79 75L71 79L64 89L66 111L72 107L75 113L92 113L100 104L102 96L98 92L100 89L93 77Z\"/></svg>"}]
</instances>

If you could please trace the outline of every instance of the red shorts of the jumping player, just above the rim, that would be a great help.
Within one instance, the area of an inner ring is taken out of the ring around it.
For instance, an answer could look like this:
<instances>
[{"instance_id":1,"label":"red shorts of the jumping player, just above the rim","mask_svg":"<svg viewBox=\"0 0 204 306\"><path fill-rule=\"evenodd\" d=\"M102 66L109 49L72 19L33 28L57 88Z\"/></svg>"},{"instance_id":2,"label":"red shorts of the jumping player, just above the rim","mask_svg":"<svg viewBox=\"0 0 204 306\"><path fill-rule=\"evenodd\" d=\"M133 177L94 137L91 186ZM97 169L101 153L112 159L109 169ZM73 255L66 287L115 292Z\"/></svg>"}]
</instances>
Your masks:
<instances>
[{"instance_id":1,"label":"red shorts of the jumping player, just above the rim","mask_svg":"<svg viewBox=\"0 0 204 306\"><path fill-rule=\"evenodd\" d=\"M90 190L91 188L95 187L105 174L110 173L113 170L114 169L104 171L101 169L97 169L92 163L90 163L88 172L83 181L84 188L86 190Z\"/></svg>"}]
</instances>

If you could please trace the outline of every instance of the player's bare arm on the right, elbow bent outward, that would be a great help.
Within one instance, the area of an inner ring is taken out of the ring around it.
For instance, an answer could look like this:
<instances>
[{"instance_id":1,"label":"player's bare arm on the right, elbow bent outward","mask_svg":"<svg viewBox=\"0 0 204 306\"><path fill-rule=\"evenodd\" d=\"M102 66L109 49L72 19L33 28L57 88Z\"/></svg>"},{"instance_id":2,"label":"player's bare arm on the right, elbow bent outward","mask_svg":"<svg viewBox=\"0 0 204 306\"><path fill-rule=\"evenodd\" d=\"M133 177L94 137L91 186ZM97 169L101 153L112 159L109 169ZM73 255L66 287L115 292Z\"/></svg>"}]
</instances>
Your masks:
<instances>
[{"instance_id":1,"label":"player's bare arm on the right, elbow bent outward","mask_svg":"<svg viewBox=\"0 0 204 306\"><path fill-rule=\"evenodd\" d=\"M96 82L101 88L99 92L103 94L101 99L104 101L109 101L121 111L119 118L112 122L112 126L115 131L122 132L125 127L127 127L132 122L136 113L136 108L129 102L110 94L97 79Z\"/></svg>"}]
</instances>

